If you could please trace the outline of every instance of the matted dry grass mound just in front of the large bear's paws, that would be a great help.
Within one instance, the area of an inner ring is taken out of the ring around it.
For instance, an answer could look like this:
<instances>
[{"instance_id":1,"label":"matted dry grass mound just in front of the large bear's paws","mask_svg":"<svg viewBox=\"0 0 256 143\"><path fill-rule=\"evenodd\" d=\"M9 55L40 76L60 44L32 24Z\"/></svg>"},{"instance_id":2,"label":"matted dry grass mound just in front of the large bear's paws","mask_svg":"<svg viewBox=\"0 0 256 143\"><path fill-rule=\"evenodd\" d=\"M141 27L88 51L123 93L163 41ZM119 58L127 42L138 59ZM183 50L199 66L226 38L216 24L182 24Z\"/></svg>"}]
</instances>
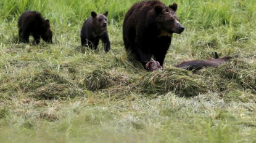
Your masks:
<instances>
[{"instance_id":1,"label":"matted dry grass mound just in front of the large bear's paws","mask_svg":"<svg viewBox=\"0 0 256 143\"><path fill-rule=\"evenodd\" d=\"M197 96L207 91L199 75L183 69L165 69L160 72L146 72L136 85L141 92L167 93L175 92L180 96Z\"/></svg>"}]
</instances>

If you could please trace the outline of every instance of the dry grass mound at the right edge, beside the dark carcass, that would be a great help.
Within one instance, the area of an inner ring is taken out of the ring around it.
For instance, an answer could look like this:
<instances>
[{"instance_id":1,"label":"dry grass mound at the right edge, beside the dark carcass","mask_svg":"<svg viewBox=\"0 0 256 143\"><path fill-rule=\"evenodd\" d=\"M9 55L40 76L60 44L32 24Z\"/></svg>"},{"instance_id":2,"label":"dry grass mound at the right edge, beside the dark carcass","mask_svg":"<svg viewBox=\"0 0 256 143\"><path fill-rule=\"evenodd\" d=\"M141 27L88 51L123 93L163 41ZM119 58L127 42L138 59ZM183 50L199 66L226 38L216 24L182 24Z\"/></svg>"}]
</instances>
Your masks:
<instances>
[{"instance_id":1,"label":"dry grass mound at the right edge, beside the dark carcass","mask_svg":"<svg viewBox=\"0 0 256 143\"><path fill-rule=\"evenodd\" d=\"M201 74L213 91L256 90L255 69L241 59L231 60L218 68L205 69Z\"/></svg>"}]
</instances>

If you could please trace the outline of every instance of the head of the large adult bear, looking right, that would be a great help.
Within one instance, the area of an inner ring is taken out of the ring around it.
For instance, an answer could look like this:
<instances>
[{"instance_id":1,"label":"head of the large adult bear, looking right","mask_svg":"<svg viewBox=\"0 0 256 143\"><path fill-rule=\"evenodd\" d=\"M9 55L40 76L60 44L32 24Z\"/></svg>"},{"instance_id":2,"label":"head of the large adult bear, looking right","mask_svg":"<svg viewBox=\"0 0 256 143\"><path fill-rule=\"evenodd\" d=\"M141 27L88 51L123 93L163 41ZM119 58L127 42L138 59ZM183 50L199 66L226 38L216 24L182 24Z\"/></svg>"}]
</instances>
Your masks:
<instances>
[{"instance_id":1,"label":"head of the large adult bear, looking right","mask_svg":"<svg viewBox=\"0 0 256 143\"><path fill-rule=\"evenodd\" d=\"M176 3L168 7L163 5L155 6L156 23L160 36L165 36L165 34L171 36L173 33L180 34L184 31L184 27L179 22L175 13L177 9L178 5Z\"/></svg>"}]
</instances>

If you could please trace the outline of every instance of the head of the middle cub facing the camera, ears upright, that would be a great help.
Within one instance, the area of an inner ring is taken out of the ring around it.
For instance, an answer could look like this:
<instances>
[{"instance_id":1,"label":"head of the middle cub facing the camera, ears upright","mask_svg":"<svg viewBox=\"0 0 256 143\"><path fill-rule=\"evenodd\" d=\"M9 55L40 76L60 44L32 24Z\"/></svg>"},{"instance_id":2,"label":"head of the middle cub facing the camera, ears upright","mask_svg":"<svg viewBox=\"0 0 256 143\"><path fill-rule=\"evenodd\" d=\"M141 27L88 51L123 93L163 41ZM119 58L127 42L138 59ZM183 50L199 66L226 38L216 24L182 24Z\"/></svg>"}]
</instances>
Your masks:
<instances>
[{"instance_id":1,"label":"head of the middle cub facing the camera, ears upright","mask_svg":"<svg viewBox=\"0 0 256 143\"><path fill-rule=\"evenodd\" d=\"M108 11L106 11L105 14L99 15L97 15L96 12L91 12L91 17L93 17L93 21L97 26L105 28L107 27L107 14L109 14Z\"/></svg>"}]
</instances>

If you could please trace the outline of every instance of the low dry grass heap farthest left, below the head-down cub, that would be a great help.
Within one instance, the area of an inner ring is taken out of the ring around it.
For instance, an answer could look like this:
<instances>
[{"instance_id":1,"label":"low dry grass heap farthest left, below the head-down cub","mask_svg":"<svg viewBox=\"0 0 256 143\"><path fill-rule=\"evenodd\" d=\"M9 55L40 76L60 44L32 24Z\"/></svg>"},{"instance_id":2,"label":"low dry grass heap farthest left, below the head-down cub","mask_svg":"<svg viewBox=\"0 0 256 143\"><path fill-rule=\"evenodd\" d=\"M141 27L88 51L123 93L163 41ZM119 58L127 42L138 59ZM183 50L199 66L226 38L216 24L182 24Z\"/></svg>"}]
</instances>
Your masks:
<instances>
[{"instance_id":1,"label":"low dry grass heap farthest left, below the head-down cub","mask_svg":"<svg viewBox=\"0 0 256 143\"><path fill-rule=\"evenodd\" d=\"M72 82L49 69L36 74L24 89L38 99L74 98L84 95L83 91Z\"/></svg>"}]
</instances>

